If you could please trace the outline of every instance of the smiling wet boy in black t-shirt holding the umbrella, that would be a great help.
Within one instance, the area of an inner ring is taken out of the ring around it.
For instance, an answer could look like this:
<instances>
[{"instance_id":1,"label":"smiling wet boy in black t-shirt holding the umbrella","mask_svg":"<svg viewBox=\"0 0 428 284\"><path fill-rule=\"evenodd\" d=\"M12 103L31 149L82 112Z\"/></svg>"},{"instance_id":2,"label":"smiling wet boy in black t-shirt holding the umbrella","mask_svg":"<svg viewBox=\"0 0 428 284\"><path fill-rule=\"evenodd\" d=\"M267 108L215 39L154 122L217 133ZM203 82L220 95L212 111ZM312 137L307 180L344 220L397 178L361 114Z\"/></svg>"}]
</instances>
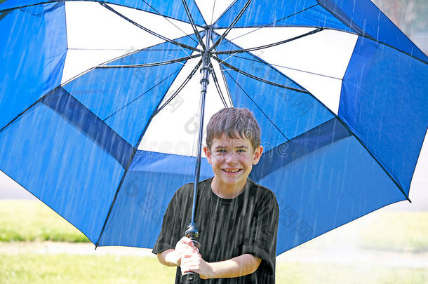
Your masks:
<instances>
[{"instance_id":1,"label":"smiling wet boy in black t-shirt holding the umbrella","mask_svg":"<svg viewBox=\"0 0 428 284\"><path fill-rule=\"evenodd\" d=\"M279 207L272 191L248 175L260 160L260 128L248 109L225 108L210 119L206 154L214 177L199 183L195 220L198 250L184 235L192 214L193 185L175 192L153 252L159 262L192 271L199 283L274 283ZM218 278L218 279L215 279Z\"/></svg>"}]
</instances>

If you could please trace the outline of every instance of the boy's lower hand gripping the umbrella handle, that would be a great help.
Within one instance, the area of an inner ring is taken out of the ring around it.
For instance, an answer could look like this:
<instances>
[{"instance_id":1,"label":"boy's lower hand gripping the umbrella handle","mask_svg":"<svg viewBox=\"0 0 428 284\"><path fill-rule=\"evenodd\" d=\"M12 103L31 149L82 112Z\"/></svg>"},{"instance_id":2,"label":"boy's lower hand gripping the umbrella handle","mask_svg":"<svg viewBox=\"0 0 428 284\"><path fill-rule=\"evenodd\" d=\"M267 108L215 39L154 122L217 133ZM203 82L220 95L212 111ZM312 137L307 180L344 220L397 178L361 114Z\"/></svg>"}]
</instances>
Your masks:
<instances>
[{"instance_id":1,"label":"boy's lower hand gripping the umbrella handle","mask_svg":"<svg viewBox=\"0 0 428 284\"><path fill-rule=\"evenodd\" d=\"M203 260L201 254L195 250L187 250L182 255L180 268L181 273L192 271L198 273L202 279L213 278L214 276L213 267Z\"/></svg>"}]
</instances>

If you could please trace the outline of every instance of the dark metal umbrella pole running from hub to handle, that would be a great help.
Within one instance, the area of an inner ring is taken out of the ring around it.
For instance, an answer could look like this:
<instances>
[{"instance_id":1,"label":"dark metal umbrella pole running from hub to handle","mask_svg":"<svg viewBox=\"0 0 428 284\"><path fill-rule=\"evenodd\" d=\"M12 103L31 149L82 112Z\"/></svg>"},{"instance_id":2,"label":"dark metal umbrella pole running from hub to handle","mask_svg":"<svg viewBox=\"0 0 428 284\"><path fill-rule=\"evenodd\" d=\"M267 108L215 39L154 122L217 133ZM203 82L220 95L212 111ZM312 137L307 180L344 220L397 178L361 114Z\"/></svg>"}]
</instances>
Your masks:
<instances>
[{"instance_id":1,"label":"dark metal umbrella pole running from hub to handle","mask_svg":"<svg viewBox=\"0 0 428 284\"><path fill-rule=\"evenodd\" d=\"M201 152L202 152L202 135L203 135L203 113L205 111L205 97L206 90L208 88L209 76L210 76L210 38L212 28L210 27L206 31L206 44L205 49L202 53L202 66L201 66L201 104L199 105L199 132L198 132L198 144L196 152L196 165L194 173L194 187L193 187L193 203L192 203L192 221L187 225L185 236L190 238L196 248L201 248L201 244L197 241L199 237L198 224L194 222L194 215L196 209L196 193L199 184L199 175L201 173ZM194 272L183 273L181 276L181 283L194 283L199 280L199 275Z\"/></svg>"}]
</instances>

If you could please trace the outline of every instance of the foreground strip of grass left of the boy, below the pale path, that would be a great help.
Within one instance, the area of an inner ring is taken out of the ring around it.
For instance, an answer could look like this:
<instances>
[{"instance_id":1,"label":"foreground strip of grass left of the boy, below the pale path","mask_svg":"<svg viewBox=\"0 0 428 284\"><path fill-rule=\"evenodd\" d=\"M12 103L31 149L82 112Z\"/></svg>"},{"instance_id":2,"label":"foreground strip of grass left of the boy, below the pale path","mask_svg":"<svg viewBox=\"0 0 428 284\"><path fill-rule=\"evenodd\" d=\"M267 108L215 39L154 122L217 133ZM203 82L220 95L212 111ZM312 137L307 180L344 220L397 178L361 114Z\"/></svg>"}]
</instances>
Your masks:
<instances>
[{"instance_id":1,"label":"foreground strip of grass left of the boy, below the pale path","mask_svg":"<svg viewBox=\"0 0 428 284\"><path fill-rule=\"evenodd\" d=\"M0 283L171 283L156 258L112 255L0 255Z\"/></svg>"}]
</instances>

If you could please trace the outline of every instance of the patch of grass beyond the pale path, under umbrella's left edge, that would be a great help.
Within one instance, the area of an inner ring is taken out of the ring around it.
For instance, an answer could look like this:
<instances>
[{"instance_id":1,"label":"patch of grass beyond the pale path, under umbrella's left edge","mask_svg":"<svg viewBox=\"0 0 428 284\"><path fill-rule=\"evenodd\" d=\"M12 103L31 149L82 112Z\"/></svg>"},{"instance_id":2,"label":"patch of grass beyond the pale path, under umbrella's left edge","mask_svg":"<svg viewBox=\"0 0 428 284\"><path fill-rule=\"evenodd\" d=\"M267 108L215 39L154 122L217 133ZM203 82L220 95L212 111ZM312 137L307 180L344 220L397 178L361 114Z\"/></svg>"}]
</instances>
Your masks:
<instances>
[{"instance_id":1,"label":"patch of grass beyond the pale path, under umbrella's left edge","mask_svg":"<svg viewBox=\"0 0 428 284\"><path fill-rule=\"evenodd\" d=\"M0 241L89 240L41 201L0 201Z\"/></svg>"}]
</instances>

